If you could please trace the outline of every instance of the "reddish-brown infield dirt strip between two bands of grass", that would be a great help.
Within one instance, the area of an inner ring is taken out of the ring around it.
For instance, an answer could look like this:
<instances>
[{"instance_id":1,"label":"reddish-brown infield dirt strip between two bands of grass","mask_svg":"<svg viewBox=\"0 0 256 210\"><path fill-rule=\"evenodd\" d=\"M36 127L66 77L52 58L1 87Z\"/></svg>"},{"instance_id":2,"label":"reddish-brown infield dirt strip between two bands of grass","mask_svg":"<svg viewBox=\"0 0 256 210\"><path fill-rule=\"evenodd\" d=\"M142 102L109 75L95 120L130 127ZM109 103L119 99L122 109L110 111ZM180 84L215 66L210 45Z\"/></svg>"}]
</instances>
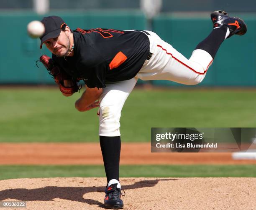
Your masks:
<instances>
[{"instance_id":1,"label":"reddish-brown infield dirt strip between two bands of grass","mask_svg":"<svg viewBox=\"0 0 256 210\"><path fill-rule=\"evenodd\" d=\"M99 143L0 143L1 165L103 165ZM231 153L151 153L150 143L122 143L120 164L256 164Z\"/></svg>"}]
</instances>

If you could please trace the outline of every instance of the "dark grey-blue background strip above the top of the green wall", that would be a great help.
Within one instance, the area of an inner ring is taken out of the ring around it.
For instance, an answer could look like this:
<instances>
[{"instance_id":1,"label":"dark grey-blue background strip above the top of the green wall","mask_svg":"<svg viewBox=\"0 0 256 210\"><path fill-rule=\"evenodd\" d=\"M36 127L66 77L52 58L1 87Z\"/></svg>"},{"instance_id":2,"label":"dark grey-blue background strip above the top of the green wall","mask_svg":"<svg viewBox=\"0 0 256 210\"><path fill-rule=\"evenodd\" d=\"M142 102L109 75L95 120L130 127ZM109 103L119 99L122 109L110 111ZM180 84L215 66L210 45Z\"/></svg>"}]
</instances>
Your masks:
<instances>
[{"instance_id":1,"label":"dark grey-blue background strip above the top of the green wall","mask_svg":"<svg viewBox=\"0 0 256 210\"><path fill-rule=\"evenodd\" d=\"M49 0L50 10L139 9L140 0ZM33 0L1 1L0 9L33 9ZM198 12L225 10L227 12L256 12L253 0L162 0L161 12Z\"/></svg>"}]
</instances>

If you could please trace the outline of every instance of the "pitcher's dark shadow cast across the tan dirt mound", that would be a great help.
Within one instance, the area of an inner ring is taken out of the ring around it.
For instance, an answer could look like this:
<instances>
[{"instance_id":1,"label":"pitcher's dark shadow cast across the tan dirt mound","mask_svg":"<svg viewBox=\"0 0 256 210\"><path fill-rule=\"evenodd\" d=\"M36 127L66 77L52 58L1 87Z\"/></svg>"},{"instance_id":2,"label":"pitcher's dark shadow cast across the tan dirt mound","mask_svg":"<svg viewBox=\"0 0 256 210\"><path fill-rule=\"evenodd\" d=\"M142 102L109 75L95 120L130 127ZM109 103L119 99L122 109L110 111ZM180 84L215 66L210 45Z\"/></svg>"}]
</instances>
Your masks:
<instances>
[{"instance_id":1,"label":"pitcher's dark shadow cast across the tan dirt mound","mask_svg":"<svg viewBox=\"0 0 256 210\"><path fill-rule=\"evenodd\" d=\"M168 180L177 180L177 179L156 179L156 180L143 180L134 183L133 185L122 185L123 190L137 189L137 188L146 188L154 187L159 181L168 181ZM72 200L81 203L88 203L90 205L98 205L103 207L103 204L97 200L84 199L83 195L86 193L92 192L104 192L105 186L102 187L54 187L47 186L44 188L37 189L9 189L0 191L0 200L5 199L15 199L20 201L49 201L54 198L61 198L65 200ZM103 198L102 198L103 201Z\"/></svg>"}]
</instances>

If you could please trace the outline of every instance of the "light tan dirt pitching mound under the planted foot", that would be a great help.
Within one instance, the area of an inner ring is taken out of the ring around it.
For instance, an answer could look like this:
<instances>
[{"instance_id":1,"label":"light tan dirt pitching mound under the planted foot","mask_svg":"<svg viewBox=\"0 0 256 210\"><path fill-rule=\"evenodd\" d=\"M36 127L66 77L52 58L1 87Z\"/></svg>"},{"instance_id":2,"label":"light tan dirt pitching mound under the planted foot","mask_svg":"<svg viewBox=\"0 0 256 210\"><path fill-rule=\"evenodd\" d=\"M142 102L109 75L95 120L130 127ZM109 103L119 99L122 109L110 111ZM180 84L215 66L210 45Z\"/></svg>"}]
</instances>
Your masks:
<instances>
[{"instance_id":1,"label":"light tan dirt pitching mound under the planted foot","mask_svg":"<svg viewBox=\"0 0 256 210\"><path fill-rule=\"evenodd\" d=\"M121 178L124 209L198 210L256 206L256 178ZM105 178L0 181L0 200L27 201L27 210L103 209ZM25 208L3 208L25 209Z\"/></svg>"}]
</instances>

